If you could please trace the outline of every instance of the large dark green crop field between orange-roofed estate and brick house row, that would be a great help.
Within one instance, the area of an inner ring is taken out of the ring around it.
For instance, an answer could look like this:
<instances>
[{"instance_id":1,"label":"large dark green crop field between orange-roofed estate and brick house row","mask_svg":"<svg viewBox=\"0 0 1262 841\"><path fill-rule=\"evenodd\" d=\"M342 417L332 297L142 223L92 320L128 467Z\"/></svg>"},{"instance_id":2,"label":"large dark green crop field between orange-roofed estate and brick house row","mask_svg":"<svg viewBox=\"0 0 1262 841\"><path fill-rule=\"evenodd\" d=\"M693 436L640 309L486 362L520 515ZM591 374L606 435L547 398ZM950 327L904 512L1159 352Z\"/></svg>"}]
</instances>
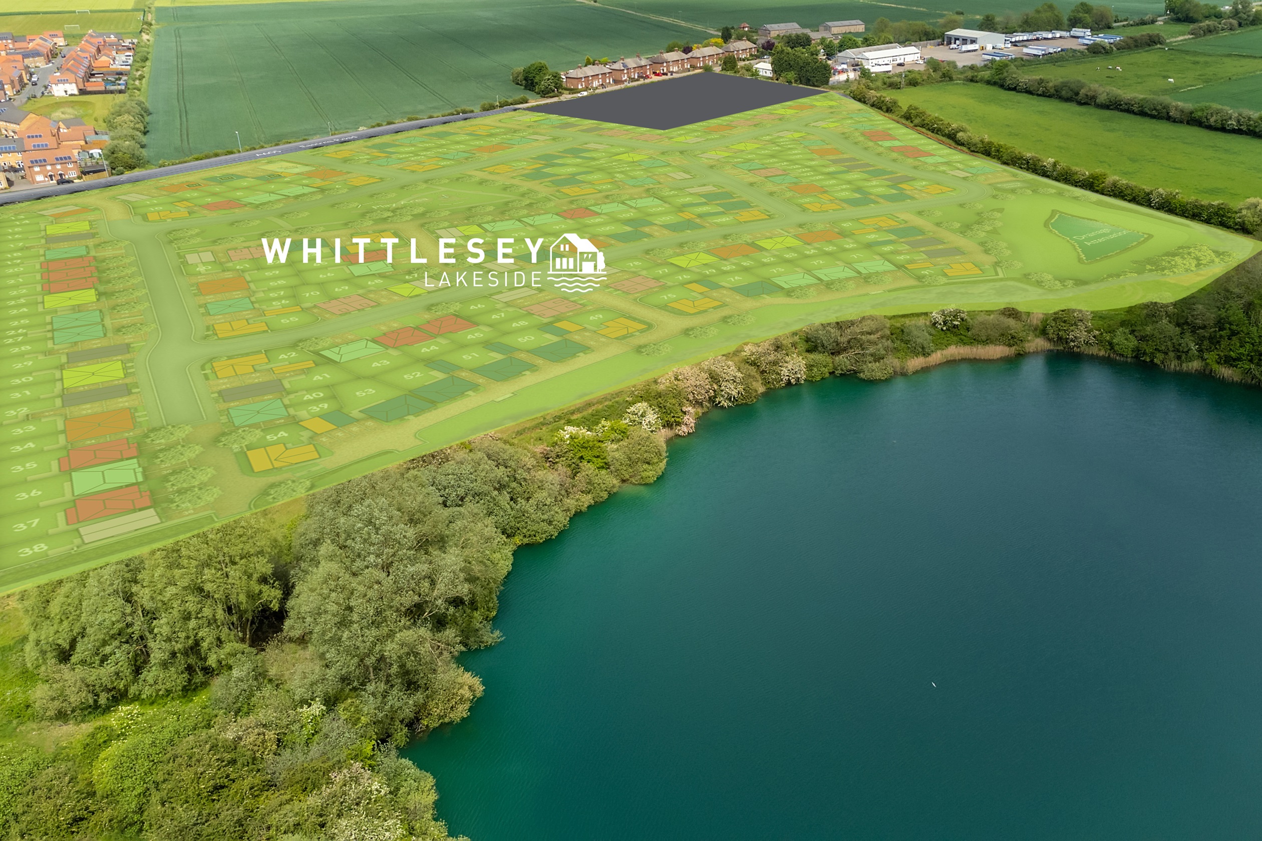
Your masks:
<instances>
[{"instance_id":1,"label":"large dark green crop field between orange-roofed estate and brick house row","mask_svg":"<svg viewBox=\"0 0 1262 841\"><path fill-rule=\"evenodd\" d=\"M326 0L163 8L149 83L149 158L246 146L522 93L509 73L543 59L656 53L699 29L574 0Z\"/></svg>"}]
</instances>

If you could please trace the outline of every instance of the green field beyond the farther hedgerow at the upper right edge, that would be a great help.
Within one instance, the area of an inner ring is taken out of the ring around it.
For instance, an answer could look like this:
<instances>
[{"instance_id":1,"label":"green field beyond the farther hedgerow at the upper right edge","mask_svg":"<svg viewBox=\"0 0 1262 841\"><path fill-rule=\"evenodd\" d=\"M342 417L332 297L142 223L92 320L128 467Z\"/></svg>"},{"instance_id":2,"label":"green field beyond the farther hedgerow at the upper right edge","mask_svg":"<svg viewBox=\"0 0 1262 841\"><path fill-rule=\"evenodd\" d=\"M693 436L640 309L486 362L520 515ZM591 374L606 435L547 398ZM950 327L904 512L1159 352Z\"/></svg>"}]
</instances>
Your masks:
<instances>
[{"instance_id":1,"label":"green field beyond the farther hedgerow at the upper right edge","mask_svg":"<svg viewBox=\"0 0 1262 841\"><path fill-rule=\"evenodd\" d=\"M1021 69L1034 76L1083 79L1131 93L1167 96L1180 102L1262 110L1262 55L1212 54L1175 45L1092 55L1059 64L1023 63Z\"/></svg>"}]
</instances>

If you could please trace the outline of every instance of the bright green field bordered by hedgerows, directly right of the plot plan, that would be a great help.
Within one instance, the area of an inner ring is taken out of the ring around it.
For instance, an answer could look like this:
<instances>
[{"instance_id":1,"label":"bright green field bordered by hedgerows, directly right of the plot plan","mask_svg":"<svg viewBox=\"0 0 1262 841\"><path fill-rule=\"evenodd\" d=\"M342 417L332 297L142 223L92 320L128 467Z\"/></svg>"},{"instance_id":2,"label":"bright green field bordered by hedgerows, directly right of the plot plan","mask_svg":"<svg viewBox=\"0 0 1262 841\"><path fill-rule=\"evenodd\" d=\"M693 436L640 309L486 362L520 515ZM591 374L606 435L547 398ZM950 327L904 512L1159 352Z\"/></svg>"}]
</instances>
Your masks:
<instances>
[{"instance_id":1,"label":"bright green field bordered by hedgerows, directly right of the plot plan","mask_svg":"<svg viewBox=\"0 0 1262 841\"><path fill-rule=\"evenodd\" d=\"M955 82L890 91L979 134L1148 187L1237 204L1262 195L1262 140Z\"/></svg>"}]
</instances>

